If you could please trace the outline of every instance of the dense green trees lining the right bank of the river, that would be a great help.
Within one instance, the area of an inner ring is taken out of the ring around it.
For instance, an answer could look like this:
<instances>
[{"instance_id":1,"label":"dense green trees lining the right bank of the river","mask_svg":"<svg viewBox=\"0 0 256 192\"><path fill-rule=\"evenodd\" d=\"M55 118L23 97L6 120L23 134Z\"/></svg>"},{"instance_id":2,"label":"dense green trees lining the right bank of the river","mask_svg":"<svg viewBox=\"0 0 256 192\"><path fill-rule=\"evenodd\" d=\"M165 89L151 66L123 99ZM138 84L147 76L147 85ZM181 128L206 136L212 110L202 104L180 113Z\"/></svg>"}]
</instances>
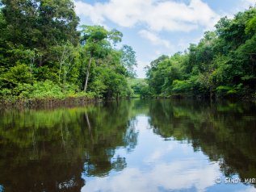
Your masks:
<instances>
[{"instance_id":1,"label":"dense green trees lining the right bank of the river","mask_svg":"<svg viewBox=\"0 0 256 192\"><path fill-rule=\"evenodd\" d=\"M215 27L185 52L152 61L143 96L255 97L256 6Z\"/></svg>"}]
</instances>

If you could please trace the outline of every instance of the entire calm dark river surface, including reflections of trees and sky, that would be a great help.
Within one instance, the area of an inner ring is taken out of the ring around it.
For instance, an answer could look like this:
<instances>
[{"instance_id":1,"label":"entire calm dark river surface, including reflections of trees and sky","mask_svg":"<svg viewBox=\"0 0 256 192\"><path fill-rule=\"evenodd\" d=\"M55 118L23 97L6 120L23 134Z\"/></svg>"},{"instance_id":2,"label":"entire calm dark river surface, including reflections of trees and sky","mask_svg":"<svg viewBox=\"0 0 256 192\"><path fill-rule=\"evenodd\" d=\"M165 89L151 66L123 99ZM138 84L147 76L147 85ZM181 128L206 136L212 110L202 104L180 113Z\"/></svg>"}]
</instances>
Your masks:
<instances>
[{"instance_id":1,"label":"entire calm dark river surface, including reflections of trees and sky","mask_svg":"<svg viewBox=\"0 0 256 192\"><path fill-rule=\"evenodd\" d=\"M0 112L0 191L256 191L256 105Z\"/></svg>"}]
</instances>

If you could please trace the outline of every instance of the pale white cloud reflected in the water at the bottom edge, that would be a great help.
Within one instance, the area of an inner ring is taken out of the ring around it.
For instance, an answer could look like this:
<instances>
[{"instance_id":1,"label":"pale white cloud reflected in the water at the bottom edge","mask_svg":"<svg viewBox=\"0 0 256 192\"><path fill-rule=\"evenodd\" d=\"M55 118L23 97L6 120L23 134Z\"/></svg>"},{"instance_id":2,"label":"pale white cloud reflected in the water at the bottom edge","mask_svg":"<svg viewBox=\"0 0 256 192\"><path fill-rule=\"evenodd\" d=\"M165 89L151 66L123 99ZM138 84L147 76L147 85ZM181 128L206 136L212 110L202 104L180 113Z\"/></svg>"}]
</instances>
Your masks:
<instances>
[{"instance_id":1,"label":"pale white cloud reflected in the water at the bottom edge","mask_svg":"<svg viewBox=\"0 0 256 192\"><path fill-rule=\"evenodd\" d=\"M199 165L195 160L158 164L146 173L128 168L112 177L96 177L86 182L82 191L159 191L159 186L166 190L188 190L195 186L197 191L205 191L215 185L218 169L217 164Z\"/></svg>"}]
</instances>

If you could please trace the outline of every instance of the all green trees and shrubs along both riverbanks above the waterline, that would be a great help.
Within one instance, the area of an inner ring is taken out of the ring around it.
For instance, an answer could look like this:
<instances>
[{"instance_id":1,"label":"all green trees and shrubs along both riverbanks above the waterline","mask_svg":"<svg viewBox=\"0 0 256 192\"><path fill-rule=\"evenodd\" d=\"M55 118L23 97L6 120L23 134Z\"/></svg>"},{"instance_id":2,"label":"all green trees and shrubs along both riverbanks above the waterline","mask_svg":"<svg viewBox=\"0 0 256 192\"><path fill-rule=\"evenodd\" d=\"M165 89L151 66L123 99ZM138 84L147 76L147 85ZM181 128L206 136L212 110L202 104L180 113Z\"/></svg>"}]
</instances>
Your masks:
<instances>
[{"instance_id":1,"label":"all green trees and shrubs along both riverbanks above the waterline","mask_svg":"<svg viewBox=\"0 0 256 192\"><path fill-rule=\"evenodd\" d=\"M1 1L0 100L256 97L256 7L221 18L199 44L152 61L115 29L79 24L72 1Z\"/></svg>"}]
</instances>

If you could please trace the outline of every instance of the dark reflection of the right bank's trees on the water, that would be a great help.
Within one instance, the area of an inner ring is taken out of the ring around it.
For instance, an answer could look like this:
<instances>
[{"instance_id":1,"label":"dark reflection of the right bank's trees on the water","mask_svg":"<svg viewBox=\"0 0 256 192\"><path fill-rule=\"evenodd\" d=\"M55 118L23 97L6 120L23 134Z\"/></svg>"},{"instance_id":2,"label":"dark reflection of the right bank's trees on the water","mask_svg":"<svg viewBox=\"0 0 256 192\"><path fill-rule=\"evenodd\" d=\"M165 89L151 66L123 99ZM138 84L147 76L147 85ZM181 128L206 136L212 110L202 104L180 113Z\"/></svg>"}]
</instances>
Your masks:
<instances>
[{"instance_id":1,"label":"dark reflection of the right bank's trees on the water","mask_svg":"<svg viewBox=\"0 0 256 192\"><path fill-rule=\"evenodd\" d=\"M156 101L149 107L153 131L187 140L218 161L226 177L256 176L256 110L250 102Z\"/></svg>"}]
</instances>

